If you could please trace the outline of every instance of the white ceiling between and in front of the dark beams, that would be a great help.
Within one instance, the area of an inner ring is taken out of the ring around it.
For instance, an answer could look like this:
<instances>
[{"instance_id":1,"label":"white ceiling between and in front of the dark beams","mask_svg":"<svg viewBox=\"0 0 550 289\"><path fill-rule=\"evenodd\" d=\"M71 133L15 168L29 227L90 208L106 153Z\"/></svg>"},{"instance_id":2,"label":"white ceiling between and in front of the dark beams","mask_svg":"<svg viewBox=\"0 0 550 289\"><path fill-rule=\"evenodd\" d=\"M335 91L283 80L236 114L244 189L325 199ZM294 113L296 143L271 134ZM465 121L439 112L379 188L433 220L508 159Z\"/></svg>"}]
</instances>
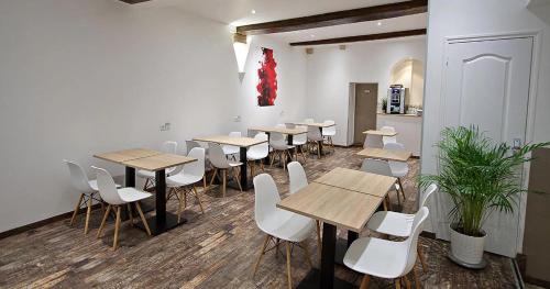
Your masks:
<instances>
[{"instance_id":1,"label":"white ceiling between and in front of the dark beams","mask_svg":"<svg viewBox=\"0 0 550 289\"><path fill-rule=\"evenodd\" d=\"M153 0L139 5L170 7L233 26L341 10L403 2L404 0ZM252 13L252 10L255 13ZM344 24L272 34L283 42L300 42L426 27L427 15ZM314 35L314 36L311 36Z\"/></svg>"}]
</instances>

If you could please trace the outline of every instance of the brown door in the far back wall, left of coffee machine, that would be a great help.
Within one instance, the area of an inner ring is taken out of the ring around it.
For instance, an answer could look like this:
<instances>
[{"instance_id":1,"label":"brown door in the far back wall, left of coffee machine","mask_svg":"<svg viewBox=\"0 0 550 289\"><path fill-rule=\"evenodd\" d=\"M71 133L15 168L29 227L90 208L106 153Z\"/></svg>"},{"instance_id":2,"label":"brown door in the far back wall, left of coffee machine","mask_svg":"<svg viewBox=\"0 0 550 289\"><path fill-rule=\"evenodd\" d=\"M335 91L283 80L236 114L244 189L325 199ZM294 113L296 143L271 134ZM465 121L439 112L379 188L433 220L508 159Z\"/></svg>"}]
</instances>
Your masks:
<instances>
[{"instance_id":1,"label":"brown door in the far back wall, left of coffee machine","mask_svg":"<svg viewBox=\"0 0 550 289\"><path fill-rule=\"evenodd\" d=\"M362 145L366 130L376 130L376 110L378 105L378 84L354 85L353 144Z\"/></svg>"}]
</instances>

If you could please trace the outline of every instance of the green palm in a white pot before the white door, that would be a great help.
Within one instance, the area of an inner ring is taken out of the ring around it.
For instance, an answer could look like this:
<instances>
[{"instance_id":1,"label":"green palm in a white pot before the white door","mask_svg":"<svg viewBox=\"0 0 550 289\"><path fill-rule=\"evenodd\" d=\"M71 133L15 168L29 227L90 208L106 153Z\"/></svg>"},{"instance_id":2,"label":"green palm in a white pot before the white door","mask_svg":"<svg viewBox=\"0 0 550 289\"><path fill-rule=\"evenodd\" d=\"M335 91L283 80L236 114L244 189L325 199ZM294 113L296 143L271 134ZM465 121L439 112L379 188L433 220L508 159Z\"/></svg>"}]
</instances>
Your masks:
<instances>
[{"instance_id":1,"label":"green palm in a white pot before the white door","mask_svg":"<svg viewBox=\"0 0 550 289\"><path fill-rule=\"evenodd\" d=\"M518 194L521 168L530 152L550 143L510 147L496 144L476 126L447 127L441 132L438 175L420 176L420 186L436 182L449 194L451 259L482 268L485 232L483 222L494 211L510 213Z\"/></svg>"}]
</instances>

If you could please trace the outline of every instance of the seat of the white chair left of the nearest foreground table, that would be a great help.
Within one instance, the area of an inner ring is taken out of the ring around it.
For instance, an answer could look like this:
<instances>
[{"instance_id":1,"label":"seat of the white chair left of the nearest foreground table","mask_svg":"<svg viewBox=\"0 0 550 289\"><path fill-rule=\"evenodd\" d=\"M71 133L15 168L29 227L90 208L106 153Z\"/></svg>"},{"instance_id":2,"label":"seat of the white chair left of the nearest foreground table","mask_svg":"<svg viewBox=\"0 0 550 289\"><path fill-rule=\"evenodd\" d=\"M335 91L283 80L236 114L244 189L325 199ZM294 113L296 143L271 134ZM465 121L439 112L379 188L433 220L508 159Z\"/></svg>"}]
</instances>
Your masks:
<instances>
[{"instance_id":1,"label":"seat of the white chair left of the nearest foreground table","mask_svg":"<svg viewBox=\"0 0 550 289\"><path fill-rule=\"evenodd\" d=\"M310 218L277 209L276 213L263 220L260 229L280 240L302 242L314 232L315 222Z\"/></svg>"}]
</instances>

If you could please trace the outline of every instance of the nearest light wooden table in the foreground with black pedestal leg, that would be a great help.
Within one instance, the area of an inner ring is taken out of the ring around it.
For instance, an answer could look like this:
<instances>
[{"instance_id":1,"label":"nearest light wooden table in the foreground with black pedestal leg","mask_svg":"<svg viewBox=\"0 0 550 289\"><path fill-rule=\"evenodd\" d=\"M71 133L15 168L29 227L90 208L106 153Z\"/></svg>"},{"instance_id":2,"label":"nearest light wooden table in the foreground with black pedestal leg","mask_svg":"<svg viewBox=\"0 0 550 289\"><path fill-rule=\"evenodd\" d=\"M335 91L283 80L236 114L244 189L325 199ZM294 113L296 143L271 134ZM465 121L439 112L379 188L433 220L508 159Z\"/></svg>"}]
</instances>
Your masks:
<instances>
[{"instance_id":1,"label":"nearest light wooden table in the foreground with black pedestal leg","mask_svg":"<svg viewBox=\"0 0 550 289\"><path fill-rule=\"evenodd\" d=\"M340 171L336 169L333 174L341 174ZM329 173L329 177L321 181L331 181L333 174ZM314 181L277 203L277 208L323 222L321 269L312 269L297 288L354 288L349 282L334 279L334 260L339 247L337 226L348 230L348 242L343 248L345 252L380 207L383 198L377 196L389 190L391 185L386 187L386 182L383 180L372 189L356 188L356 191ZM338 184L350 187L345 182ZM366 190L372 194L362 192Z\"/></svg>"}]
</instances>

